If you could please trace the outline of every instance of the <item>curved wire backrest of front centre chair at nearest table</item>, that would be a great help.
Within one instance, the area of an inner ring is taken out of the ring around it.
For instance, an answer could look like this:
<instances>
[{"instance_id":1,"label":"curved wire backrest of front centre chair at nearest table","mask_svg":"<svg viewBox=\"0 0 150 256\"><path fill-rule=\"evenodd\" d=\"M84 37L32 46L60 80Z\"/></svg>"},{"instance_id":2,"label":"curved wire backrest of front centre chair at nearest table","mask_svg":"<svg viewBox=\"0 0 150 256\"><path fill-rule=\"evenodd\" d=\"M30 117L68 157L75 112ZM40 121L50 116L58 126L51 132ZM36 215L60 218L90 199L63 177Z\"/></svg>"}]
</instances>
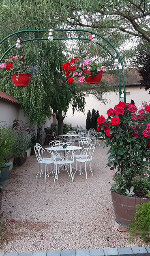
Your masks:
<instances>
[{"instance_id":1,"label":"curved wire backrest of front centre chair at nearest table","mask_svg":"<svg viewBox=\"0 0 150 256\"><path fill-rule=\"evenodd\" d=\"M63 149L63 145L60 145L60 143L52 146L50 152L53 157L54 161L74 161L74 150L73 146L64 143L65 145L65 150Z\"/></svg>"}]
</instances>

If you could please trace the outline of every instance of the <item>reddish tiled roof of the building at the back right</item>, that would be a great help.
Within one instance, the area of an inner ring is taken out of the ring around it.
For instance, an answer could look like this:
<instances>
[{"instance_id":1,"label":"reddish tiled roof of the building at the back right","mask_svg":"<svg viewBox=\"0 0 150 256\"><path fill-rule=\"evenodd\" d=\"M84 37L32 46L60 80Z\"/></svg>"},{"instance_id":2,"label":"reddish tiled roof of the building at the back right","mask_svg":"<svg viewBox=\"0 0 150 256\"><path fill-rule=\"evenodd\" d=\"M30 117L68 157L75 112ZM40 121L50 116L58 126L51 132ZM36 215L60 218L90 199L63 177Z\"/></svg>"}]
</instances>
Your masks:
<instances>
[{"instance_id":1,"label":"reddish tiled roof of the building at the back right","mask_svg":"<svg viewBox=\"0 0 150 256\"><path fill-rule=\"evenodd\" d=\"M125 75L125 84L126 85L139 85L141 76L139 76L139 72L137 69L124 69L124 75ZM123 78L122 78L122 70L120 70L120 76L121 76L121 84L123 84ZM119 85L119 77L115 75L110 75L103 72L103 76L101 81L107 82L108 85Z\"/></svg>"}]
</instances>

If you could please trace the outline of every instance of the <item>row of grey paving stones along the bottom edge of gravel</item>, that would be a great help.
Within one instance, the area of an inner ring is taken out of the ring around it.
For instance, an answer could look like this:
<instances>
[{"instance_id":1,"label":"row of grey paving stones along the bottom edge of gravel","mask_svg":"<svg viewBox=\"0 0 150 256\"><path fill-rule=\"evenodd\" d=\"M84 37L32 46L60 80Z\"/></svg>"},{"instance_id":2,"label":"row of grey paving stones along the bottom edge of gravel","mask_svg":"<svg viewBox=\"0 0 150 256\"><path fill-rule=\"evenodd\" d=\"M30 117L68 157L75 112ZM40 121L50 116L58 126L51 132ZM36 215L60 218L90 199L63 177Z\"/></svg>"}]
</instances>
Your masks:
<instances>
[{"instance_id":1,"label":"row of grey paving stones along the bottom edge of gravel","mask_svg":"<svg viewBox=\"0 0 150 256\"><path fill-rule=\"evenodd\" d=\"M20 252L6 253L0 256L150 256L150 246L147 247L122 247L105 249L77 249L49 252Z\"/></svg>"}]
</instances>

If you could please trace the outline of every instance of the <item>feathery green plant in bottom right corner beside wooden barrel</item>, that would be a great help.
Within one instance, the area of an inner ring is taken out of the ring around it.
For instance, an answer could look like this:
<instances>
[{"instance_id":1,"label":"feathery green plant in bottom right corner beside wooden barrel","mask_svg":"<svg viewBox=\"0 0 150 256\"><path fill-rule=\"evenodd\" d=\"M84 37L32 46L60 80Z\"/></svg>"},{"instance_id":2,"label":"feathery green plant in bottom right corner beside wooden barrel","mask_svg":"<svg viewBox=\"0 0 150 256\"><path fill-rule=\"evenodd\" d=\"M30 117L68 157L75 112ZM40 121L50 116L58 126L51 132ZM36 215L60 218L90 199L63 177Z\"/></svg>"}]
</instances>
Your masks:
<instances>
[{"instance_id":1,"label":"feathery green plant in bottom right corner beside wooden barrel","mask_svg":"<svg viewBox=\"0 0 150 256\"><path fill-rule=\"evenodd\" d=\"M150 242L150 202L141 202L129 223L129 241L133 236L140 236L146 243Z\"/></svg>"}]
</instances>

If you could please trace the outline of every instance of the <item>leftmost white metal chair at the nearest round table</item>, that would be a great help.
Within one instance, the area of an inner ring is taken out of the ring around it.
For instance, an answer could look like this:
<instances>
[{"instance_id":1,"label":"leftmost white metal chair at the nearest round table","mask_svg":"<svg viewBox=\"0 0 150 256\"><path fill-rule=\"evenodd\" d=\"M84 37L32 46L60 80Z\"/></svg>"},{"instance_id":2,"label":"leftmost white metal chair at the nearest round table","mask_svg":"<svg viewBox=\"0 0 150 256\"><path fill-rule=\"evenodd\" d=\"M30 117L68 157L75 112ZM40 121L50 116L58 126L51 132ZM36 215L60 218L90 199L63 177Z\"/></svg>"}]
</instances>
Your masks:
<instances>
[{"instance_id":1,"label":"leftmost white metal chair at the nearest round table","mask_svg":"<svg viewBox=\"0 0 150 256\"><path fill-rule=\"evenodd\" d=\"M40 177L41 177L41 174L43 174L43 164L45 165L45 181L46 181L46 177L48 176L49 177L49 174L52 173L53 174L53 177L54 177L54 170L51 169L50 172L47 173L47 165L48 164L53 164L54 161L52 160L52 158L46 158L45 156L45 150L42 148L42 146L38 143L36 143L36 145L34 146L34 152L36 154L36 158L37 158L37 161L38 161L38 164L39 164L39 170L38 170L38 173L36 175L36 179L37 179L37 176L40 172L40 164L41 164L41 172L40 172Z\"/></svg>"}]
</instances>

